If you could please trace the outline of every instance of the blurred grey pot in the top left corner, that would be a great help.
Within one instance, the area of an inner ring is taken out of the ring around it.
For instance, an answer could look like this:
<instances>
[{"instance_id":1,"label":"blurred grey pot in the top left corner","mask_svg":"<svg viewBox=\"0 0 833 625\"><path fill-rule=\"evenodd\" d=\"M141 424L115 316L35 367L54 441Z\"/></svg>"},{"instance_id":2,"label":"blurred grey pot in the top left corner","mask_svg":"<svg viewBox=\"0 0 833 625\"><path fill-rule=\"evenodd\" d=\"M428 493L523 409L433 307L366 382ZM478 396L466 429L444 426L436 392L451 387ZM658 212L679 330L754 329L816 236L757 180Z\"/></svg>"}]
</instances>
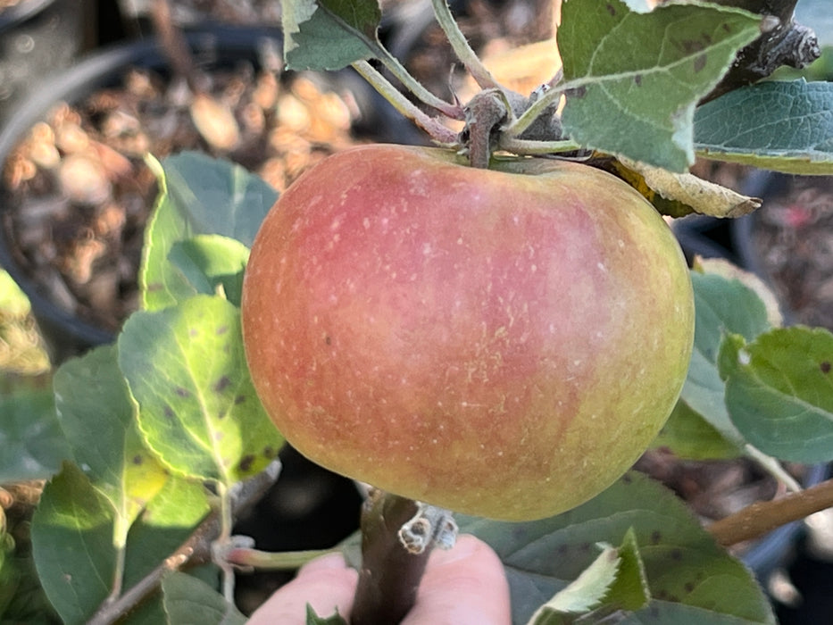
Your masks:
<instances>
[{"instance_id":1,"label":"blurred grey pot in the top left corner","mask_svg":"<svg viewBox=\"0 0 833 625\"><path fill-rule=\"evenodd\" d=\"M81 51L87 0L20 0L0 10L0 123L45 73Z\"/></svg>"}]
</instances>

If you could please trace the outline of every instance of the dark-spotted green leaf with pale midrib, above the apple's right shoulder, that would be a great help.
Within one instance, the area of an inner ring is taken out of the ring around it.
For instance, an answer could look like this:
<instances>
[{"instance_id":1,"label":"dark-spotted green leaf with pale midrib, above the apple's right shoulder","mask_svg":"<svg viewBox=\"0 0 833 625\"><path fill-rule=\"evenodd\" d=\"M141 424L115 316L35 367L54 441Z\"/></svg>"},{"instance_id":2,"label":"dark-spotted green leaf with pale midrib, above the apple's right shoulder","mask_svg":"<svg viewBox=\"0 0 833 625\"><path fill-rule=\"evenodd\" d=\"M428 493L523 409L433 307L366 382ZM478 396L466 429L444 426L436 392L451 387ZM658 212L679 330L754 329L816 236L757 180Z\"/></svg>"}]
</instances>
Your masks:
<instances>
[{"instance_id":1,"label":"dark-spotted green leaf with pale midrib, above the apple's right shoulder","mask_svg":"<svg viewBox=\"0 0 833 625\"><path fill-rule=\"evenodd\" d=\"M564 129L583 146L687 171L697 101L760 35L760 16L709 4L629 11L620 0L569 0L558 45Z\"/></svg>"}]
</instances>

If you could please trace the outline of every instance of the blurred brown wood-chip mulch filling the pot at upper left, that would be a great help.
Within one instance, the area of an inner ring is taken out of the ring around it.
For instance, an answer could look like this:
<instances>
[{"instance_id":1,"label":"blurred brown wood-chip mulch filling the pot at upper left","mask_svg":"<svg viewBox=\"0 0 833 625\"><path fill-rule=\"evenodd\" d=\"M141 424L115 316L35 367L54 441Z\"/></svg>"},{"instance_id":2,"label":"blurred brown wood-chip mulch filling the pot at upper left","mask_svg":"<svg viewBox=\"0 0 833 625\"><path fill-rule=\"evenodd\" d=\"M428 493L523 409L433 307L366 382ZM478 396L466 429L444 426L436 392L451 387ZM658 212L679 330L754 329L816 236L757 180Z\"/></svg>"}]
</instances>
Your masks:
<instances>
[{"instance_id":1,"label":"blurred brown wood-chip mulch filling the pot at upper left","mask_svg":"<svg viewBox=\"0 0 833 625\"><path fill-rule=\"evenodd\" d=\"M282 190L352 145L350 95L251 64L184 79L134 68L123 84L57 103L4 163L4 228L21 264L71 312L116 330L137 308L143 230L157 187L144 161L199 150Z\"/></svg>"}]
</instances>

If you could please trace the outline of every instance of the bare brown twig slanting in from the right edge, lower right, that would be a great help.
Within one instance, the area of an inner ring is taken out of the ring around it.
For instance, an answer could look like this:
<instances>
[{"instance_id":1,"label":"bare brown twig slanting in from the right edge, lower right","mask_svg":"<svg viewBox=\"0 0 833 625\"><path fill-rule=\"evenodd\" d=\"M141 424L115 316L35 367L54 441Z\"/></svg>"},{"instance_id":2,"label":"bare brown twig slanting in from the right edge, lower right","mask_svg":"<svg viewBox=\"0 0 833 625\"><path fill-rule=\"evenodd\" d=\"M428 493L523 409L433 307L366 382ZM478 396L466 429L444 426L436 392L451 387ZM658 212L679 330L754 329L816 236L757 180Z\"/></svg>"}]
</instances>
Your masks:
<instances>
[{"instance_id":1,"label":"bare brown twig slanting in from the right edge, lower right","mask_svg":"<svg viewBox=\"0 0 833 625\"><path fill-rule=\"evenodd\" d=\"M736 545L762 537L773 529L829 507L833 507L833 479L806 488L800 493L749 505L725 519L714 521L708 530L721 545Z\"/></svg>"}]
</instances>

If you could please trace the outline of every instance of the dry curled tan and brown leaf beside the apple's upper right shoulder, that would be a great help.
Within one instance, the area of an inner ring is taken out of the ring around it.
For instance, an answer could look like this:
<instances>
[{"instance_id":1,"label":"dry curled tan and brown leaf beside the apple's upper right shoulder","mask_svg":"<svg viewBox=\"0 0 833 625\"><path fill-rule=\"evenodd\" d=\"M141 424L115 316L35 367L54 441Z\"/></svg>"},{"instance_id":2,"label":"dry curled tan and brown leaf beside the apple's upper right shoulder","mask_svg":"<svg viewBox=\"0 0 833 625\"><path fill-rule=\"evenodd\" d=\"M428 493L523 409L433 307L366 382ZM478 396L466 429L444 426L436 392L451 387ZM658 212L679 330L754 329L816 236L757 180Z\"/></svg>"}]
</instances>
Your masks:
<instances>
[{"instance_id":1,"label":"dry curled tan and brown leaf beside the apple's upper right shoulder","mask_svg":"<svg viewBox=\"0 0 833 625\"><path fill-rule=\"evenodd\" d=\"M740 217L761 207L758 198L742 196L691 173L674 173L625 158L616 169L659 212L671 217L691 212L710 217Z\"/></svg>"}]
</instances>

